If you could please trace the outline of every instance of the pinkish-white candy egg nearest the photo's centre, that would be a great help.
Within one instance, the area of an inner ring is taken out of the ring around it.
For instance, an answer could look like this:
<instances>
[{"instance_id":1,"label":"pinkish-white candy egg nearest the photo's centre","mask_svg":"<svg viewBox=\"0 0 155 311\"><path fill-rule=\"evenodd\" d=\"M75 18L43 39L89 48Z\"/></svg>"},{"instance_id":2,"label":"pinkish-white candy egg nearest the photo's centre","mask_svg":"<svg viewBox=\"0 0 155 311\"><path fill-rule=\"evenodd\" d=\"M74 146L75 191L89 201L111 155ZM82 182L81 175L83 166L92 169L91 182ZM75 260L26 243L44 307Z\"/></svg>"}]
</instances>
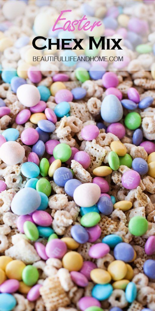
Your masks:
<instances>
[{"instance_id":1,"label":"pinkish-white candy egg nearest the photo's centre","mask_svg":"<svg viewBox=\"0 0 155 311\"><path fill-rule=\"evenodd\" d=\"M95 183L82 183L73 194L75 203L82 207L91 207L97 203L100 198L100 187Z\"/></svg>"}]
</instances>

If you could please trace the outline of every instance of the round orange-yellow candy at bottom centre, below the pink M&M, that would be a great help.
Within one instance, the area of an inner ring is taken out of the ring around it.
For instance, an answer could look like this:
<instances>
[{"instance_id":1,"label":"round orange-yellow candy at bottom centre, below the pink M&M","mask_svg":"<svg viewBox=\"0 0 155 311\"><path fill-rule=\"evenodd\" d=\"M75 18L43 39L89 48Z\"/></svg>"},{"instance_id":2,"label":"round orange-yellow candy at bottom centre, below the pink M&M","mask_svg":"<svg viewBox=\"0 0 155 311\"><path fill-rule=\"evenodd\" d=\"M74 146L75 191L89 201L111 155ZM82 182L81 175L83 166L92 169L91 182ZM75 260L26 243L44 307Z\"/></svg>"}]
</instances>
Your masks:
<instances>
[{"instance_id":1,"label":"round orange-yellow candy at bottom centre, below the pink M&M","mask_svg":"<svg viewBox=\"0 0 155 311\"><path fill-rule=\"evenodd\" d=\"M71 251L62 258L62 265L69 271L79 271L83 265L83 258L81 254Z\"/></svg>"}]
</instances>

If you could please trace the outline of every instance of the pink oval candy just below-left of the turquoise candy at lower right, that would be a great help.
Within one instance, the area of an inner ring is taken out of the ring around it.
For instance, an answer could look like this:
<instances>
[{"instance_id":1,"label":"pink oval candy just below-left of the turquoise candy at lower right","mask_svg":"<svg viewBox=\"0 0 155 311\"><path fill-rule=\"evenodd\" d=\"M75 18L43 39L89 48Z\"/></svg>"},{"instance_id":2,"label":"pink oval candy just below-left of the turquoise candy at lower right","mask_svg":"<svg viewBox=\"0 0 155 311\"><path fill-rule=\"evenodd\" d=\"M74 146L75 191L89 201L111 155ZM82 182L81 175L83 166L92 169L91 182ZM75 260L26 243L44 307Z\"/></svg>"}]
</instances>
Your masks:
<instances>
[{"instance_id":1,"label":"pink oval candy just below-left of the turquoise candy at lower right","mask_svg":"<svg viewBox=\"0 0 155 311\"><path fill-rule=\"evenodd\" d=\"M89 249L89 256L91 258L101 258L110 252L110 247L105 243L97 243Z\"/></svg>"}]
</instances>

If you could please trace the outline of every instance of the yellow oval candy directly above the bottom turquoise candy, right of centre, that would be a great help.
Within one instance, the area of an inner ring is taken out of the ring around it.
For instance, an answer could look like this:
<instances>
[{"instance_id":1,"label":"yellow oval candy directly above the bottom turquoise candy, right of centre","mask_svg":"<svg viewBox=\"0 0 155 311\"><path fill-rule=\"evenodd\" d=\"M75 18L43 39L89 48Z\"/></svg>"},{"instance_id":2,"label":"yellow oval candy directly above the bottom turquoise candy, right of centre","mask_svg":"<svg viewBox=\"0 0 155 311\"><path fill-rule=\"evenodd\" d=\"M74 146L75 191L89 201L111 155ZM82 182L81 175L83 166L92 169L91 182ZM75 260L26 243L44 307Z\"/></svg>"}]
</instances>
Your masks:
<instances>
[{"instance_id":1,"label":"yellow oval candy directly above the bottom turquoise candy, right of centre","mask_svg":"<svg viewBox=\"0 0 155 311\"><path fill-rule=\"evenodd\" d=\"M100 268L91 270L91 280L97 284L107 284L111 281L111 275L108 271Z\"/></svg>"}]
</instances>

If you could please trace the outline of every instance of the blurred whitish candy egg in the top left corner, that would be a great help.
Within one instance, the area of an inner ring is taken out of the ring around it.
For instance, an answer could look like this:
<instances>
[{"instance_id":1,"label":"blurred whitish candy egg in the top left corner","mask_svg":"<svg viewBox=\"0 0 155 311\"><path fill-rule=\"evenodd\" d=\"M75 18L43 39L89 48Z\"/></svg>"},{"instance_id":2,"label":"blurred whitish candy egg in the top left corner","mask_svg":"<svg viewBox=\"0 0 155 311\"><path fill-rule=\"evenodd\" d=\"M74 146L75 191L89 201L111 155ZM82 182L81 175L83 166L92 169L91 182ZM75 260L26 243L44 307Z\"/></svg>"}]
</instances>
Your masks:
<instances>
[{"instance_id":1,"label":"blurred whitish candy egg in the top left corner","mask_svg":"<svg viewBox=\"0 0 155 311\"><path fill-rule=\"evenodd\" d=\"M26 8L24 1L4 1L2 12L5 18L9 21L14 20L16 17L23 15Z\"/></svg>"}]
</instances>

